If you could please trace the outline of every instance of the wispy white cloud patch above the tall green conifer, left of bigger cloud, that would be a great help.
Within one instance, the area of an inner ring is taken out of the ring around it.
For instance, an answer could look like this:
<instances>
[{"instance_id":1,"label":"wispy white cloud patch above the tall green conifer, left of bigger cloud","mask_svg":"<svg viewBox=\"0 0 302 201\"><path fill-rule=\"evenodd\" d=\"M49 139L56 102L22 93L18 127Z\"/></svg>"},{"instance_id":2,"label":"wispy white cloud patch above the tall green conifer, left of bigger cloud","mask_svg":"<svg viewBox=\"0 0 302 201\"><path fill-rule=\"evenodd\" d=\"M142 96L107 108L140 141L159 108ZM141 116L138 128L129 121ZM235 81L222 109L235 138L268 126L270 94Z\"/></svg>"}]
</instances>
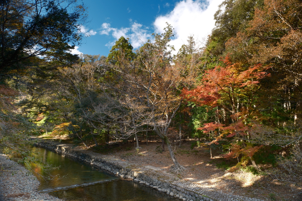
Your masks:
<instances>
[{"instance_id":1,"label":"wispy white cloud patch above the tall green conifer, left of bigger cloud","mask_svg":"<svg viewBox=\"0 0 302 201\"><path fill-rule=\"evenodd\" d=\"M130 27L122 27L112 28L109 23L103 23L101 26L100 34L109 35L111 34L114 39L119 39L121 36L125 38L129 38L131 45L133 48L137 49L143 45L143 43L147 42L149 38L151 38L151 34L149 33L148 27L144 27L139 23L131 23ZM106 46L110 47L114 44L114 42L109 42Z\"/></svg>"}]
</instances>

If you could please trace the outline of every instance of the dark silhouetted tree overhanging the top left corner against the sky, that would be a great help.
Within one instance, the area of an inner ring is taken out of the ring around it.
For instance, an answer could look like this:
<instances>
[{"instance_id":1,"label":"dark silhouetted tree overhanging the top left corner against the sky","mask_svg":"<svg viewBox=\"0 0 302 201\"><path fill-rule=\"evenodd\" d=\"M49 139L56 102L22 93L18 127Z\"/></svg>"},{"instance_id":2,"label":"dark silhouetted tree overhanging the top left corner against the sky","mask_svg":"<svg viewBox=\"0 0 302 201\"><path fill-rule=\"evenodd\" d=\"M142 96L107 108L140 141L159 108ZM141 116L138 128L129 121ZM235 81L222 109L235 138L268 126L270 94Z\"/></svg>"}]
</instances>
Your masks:
<instances>
[{"instance_id":1,"label":"dark silhouetted tree overhanging the top left corner against the sky","mask_svg":"<svg viewBox=\"0 0 302 201\"><path fill-rule=\"evenodd\" d=\"M84 23L84 11L83 5L76 1L3 1L0 5L2 76L14 69L47 67L54 60L62 65L62 61L72 57L66 52L72 48L68 43L78 44L82 38L79 25Z\"/></svg>"}]
</instances>

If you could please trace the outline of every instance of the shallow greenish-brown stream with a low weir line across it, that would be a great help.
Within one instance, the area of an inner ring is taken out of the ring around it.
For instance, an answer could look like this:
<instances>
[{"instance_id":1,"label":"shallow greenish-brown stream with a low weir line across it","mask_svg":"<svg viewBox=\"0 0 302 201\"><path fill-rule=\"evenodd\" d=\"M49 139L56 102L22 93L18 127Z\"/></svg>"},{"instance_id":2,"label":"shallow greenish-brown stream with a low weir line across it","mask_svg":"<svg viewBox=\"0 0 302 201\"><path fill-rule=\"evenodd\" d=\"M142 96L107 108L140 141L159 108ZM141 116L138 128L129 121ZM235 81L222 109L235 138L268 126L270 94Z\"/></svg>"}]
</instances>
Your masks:
<instances>
[{"instance_id":1,"label":"shallow greenish-brown stream with a low weir line across it","mask_svg":"<svg viewBox=\"0 0 302 201\"><path fill-rule=\"evenodd\" d=\"M44 164L59 167L47 171L40 165L29 163L41 183L40 192L72 201L171 200L165 193L159 193L133 181L121 180L95 166L66 155L40 147L32 147L31 150L36 154L36 158L43 160ZM47 179L50 175L53 177L52 180Z\"/></svg>"}]
</instances>

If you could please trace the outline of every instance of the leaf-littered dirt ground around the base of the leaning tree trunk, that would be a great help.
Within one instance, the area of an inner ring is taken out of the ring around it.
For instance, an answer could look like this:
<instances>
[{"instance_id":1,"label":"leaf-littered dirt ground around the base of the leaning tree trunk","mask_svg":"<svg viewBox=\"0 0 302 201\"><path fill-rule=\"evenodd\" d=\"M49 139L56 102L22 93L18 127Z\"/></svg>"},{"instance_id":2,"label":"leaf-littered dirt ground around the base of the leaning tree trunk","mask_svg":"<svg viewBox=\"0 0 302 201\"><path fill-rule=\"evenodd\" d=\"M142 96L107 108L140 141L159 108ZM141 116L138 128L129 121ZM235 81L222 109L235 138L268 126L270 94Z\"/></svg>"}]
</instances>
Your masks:
<instances>
[{"instance_id":1,"label":"leaf-littered dirt ground around the base of the leaning tree trunk","mask_svg":"<svg viewBox=\"0 0 302 201\"><path fill-rule=\"evenodd\" d=\"M175 154L180 162L187 170L176 175L170 171L173 162L169 152L158 152L156 148L161 143L149 143L148 145L141 143L142 149L127 150L121 147L120 150L113 150L108 155L115 156L121 160L140 164L140 166L152 165L159 167L163 173L171 174L174 177L175 184L192 185L195 188L206 188L213 191L249 197L260 200L302 200L302 196L281 196L275 192L289 194L289 187L280 185L276 181L263 175L254 175L251 172L236 171L228 172L224 168L217 168L215 164L223 164L218 156L210 158L209 150L204 147L190 148L191 143L184 144L181 148L175 147ZM129 149L129 148L128 148ZM158 149L157 149L158 150ZM226 164L227 165L227 164ZM223 166L223 165L221 165Z\"/></svg>"}]
</instances>

